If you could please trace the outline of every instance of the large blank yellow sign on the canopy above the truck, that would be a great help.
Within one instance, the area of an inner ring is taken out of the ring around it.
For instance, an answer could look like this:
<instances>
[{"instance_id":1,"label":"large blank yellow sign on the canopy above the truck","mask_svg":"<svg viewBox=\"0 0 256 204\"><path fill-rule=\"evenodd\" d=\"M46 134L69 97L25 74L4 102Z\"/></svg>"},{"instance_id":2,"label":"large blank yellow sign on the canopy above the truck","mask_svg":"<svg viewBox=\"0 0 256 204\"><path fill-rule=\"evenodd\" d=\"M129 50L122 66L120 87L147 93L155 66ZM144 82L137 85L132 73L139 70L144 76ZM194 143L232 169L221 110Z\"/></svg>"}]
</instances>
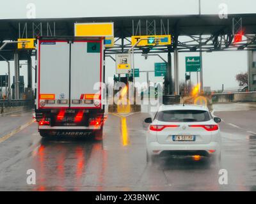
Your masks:
<instances>
[{"instance_id":1,"label":"large blank yellow sign on the canopy above the truck","mask_svg":"<svg viewBox=\"0 0 256 204\"><path fill-rule=\"evenodd\" d=\"M114 23L76 23L75 36L112 37L114 36Z\"/></svg>"}]
</instances>

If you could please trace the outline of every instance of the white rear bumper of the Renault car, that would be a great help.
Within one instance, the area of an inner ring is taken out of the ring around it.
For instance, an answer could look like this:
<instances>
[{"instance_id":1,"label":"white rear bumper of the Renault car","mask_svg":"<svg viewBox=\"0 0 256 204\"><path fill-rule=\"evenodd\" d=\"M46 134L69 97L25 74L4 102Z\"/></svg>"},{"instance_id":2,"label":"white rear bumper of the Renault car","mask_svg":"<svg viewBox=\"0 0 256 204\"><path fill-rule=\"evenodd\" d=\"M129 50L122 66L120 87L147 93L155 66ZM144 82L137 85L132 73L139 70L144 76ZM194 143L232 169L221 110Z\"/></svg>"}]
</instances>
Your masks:
<instances>
[{"instance_id":1,"label":"white rear bumper of the Renault car","mask_svg":"<svg viewBox=\"0 0 256 204\"><path fill-rule=\"evenodd\" d=\"M211 150L211 152L210 152ZM205 156L215 154L220 151L220 143L211 142L207 144L159 144L158 142L150 142L147 144L147 151L152 155L160 155L163 152L205 152Z\"/></svg>"}]
</instances>

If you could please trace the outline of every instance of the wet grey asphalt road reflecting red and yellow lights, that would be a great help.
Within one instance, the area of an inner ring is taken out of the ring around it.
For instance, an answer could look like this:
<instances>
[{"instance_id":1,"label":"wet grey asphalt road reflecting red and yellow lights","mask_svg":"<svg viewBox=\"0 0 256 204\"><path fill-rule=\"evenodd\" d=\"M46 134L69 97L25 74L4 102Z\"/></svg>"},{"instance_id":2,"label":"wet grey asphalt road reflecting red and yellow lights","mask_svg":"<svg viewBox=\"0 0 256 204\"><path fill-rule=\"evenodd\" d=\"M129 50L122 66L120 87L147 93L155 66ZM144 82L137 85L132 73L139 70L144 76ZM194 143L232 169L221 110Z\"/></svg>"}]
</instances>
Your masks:
<instances>
[{"instance_id":1,"label":"wet grey asphalt road reflecting red and yellow lights","mask_svg":"<svg viewBox=\"0 0 256 204\"><path fill-rule=\"evenodd\" d=\"M0 117L0 191L256 191L256 105L214 105L221 117L220 166L192 159L146 162L143 119L108 115L104 140L44 140L34 122L8 139L31 112ZM20 122L20 123L19 123ZM28 185L28 169L36 184ZM220 169L228 184L220 185Z\"/></svg>"}]
</instances>

